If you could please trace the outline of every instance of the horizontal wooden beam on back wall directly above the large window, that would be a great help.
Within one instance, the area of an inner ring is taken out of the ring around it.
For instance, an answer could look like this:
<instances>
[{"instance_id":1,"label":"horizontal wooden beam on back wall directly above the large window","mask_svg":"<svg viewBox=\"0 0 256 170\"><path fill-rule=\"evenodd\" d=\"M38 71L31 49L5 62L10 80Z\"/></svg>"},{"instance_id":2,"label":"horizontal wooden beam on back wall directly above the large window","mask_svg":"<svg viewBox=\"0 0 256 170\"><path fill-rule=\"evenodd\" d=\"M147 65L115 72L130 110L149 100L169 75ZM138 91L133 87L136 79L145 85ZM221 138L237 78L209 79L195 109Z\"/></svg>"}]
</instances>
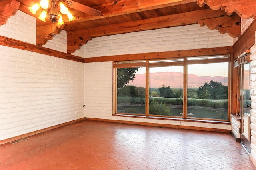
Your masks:
<instances>
[{"instance_id":1,"label":"horizontal wooden beam on back wall directly above the large window","mask_svg":"<svg viewBox=\"0 0 256 170\"><path fill-rule=\"evenodd\" d=\"M104 57L91 57L84 58L85 63L90 62L105 62L105 61L131 61L131 60L146 60L146 59L164 59L164 58L177 58L177 57L196 57L196 56L215 56L232 54L233 47L216 47L216 48L203 48L196 50L180 50L168 52L152 52L142 54L126 54L116 56Z\"/></svg>"}]
</instances>

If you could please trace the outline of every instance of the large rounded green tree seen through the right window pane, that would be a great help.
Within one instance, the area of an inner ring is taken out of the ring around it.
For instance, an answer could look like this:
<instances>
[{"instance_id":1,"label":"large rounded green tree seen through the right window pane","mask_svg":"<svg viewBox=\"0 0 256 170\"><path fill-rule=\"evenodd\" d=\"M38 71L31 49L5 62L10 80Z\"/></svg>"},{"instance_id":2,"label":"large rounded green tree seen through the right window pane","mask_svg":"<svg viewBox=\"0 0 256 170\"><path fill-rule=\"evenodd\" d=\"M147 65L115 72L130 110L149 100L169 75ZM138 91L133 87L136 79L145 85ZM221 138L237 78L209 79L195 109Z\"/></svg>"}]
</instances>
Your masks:
<instances>
[{"instance_id":1,"label":"large rounded green tree seen through the right window pane","mask_svg":"<svg viewBox=\"0 0 256 170\"><path fill-rule=\"evenodd\" d=\"M210 80L210 83L204 83L197 90L197 95L201 99L227 99L228 86L222 85L221 82Z\"/></svg>"}]
</instances>

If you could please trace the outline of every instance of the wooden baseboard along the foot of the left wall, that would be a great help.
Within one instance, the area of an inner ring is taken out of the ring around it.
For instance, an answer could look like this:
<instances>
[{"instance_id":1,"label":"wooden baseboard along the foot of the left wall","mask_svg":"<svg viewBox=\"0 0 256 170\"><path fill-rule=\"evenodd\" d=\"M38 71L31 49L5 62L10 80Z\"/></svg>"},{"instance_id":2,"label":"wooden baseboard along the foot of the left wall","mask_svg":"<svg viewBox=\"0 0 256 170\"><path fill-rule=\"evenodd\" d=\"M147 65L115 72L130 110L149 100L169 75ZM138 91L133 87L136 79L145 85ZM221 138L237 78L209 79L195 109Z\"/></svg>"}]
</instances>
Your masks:
<instances>
[{"instance_id":1,"label":"wooden baseboard along the foot of the left wall","mask_svg":"<svg viewBox=\"0 0 256 170\"><path fill-rule=\"evenodd\" d=\"M8 138L8 139L4 139L4 140L0 140L0 145L1 144L5 144L5 143L9 143L9 142L13 142L15 140L20 140L22 138L26 138L28 136L32 136L32 135L35 135L35 134L39 134L39 133L42 133L42 132L46 132L48 130L52 130L52 129L55 129L55 128L59 128L61 126L66 126L68 124L73 124L73 123L76 123L76 122L80 122L82 120L85 120L85 118L80 118L80 119L77 119L77 120L72 120L70 122L66 122L66 123L62 123L62 124L58 124L58 125L55 125L55 126L51 126L51 127L48 127L48 128L44 128L44 129L40 129L40 130L36 130L34 132L29 132L29 133L26 133L26 134L22 134L22 135L19 135L19 136L15 136L15 137L12 137L12 138Z\"/></svg>"}]
</instances>

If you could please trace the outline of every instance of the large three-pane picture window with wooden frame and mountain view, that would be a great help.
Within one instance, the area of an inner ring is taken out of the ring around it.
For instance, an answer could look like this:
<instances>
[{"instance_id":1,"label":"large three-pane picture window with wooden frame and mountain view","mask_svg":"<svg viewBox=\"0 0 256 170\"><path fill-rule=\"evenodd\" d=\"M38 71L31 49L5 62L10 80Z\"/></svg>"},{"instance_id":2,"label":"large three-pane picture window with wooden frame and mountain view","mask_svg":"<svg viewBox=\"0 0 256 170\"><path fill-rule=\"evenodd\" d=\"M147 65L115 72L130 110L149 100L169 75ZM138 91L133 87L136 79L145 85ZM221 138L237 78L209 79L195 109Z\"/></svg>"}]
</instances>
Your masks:
<instances>
[{"instance_id":1,"label":"large three-pane picture window with wooden frame and mountain view","mask_svg":"<svg viewBox=\"0 0 256 170\"><path fill-rule=\"evenodd\" d=\"M115 62L114 114L228 120L229 56Z\"/></svg>"}]
</instances>

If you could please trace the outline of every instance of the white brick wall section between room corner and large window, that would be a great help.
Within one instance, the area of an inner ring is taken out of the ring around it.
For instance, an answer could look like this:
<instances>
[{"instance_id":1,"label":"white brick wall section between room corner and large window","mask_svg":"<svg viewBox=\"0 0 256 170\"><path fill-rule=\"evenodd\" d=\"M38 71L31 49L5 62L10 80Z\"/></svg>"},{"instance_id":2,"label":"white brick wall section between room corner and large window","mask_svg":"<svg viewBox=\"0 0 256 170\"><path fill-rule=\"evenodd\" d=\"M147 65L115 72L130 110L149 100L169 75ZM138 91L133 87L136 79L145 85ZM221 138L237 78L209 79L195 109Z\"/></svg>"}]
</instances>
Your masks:
<instances>
[{"instance_id":1,"label":"white brick wall section between room corner and large window","mask_svg":"<svg viewBox=\"0 0 256 170\"><path fill-rule=\"evenodd\" d=\"M112 62L84 65L84 103L87 118L113 119Z\"/></svg>"}]
</instances>

